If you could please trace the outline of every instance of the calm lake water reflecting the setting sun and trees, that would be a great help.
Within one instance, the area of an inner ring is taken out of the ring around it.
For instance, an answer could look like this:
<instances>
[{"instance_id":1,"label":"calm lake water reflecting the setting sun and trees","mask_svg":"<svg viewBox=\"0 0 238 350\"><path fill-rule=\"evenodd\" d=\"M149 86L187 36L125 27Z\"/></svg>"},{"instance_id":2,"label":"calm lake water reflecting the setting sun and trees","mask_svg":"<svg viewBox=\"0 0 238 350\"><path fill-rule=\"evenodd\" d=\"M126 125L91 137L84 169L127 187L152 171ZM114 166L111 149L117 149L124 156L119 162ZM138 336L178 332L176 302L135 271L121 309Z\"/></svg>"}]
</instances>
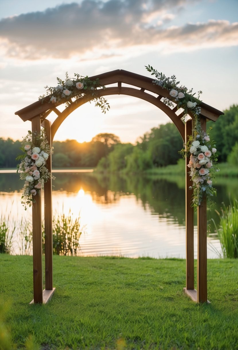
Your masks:
<instances>
[{"instance_id":1,"label":"calm lake water reflecting the setting sun and trees","mask_svg":"<svg viewBox=\"0 0 238 350\"><path fill-rule=\"evenodd\" d=\"M81 217L85 234L80 238L81 252L86 255L125 255L127 257L185 258L185 183L183 177L100 176L92 172L57 172L53 181L53 212ZM31 221L31 209L21 205L24 182L15 173L0 173L0 212L9 222L23 217ZM216 210L222 202L238 198L237 180L217 182ZM218 220L216 211L208 211ZM196 222L196 218L195 218ZM213 226L210 229L214 232ZM195 257L197 251L195 226ZM14 252L21 253L17 233ZM208 257L221 251L214 235L208 236Z\"/></svg>"}]
</instances>

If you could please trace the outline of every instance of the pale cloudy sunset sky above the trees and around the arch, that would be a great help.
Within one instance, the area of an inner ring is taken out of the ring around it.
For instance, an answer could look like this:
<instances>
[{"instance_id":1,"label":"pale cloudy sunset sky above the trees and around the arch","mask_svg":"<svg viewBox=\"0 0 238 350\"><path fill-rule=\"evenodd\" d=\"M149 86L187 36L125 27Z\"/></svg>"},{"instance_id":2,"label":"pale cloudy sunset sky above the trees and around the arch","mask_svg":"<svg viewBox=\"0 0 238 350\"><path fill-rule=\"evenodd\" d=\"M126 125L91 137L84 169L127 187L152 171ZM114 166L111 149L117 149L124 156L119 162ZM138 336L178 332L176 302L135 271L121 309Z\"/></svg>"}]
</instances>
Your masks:
<instances>
[{"instance_id":1,"label":"pale cloudy sunset sky above the trees and around the arch","mask_svg":"<svg viewBox=\"0 0 238 350\"><path fill-rule=\"evenodd\" d=\"M238 0L0 0L0 137L21 140L31 123L14 113L37 101L46 85L57 86L66 71L150 76L144 68L150 64L202 90L203 102L223 111L238 104L237 62ZM87 103L54 139L83 142L108 132L134 143L170 121L146 101L107 99L109 112Z\"/></svg>"}]
</instances>

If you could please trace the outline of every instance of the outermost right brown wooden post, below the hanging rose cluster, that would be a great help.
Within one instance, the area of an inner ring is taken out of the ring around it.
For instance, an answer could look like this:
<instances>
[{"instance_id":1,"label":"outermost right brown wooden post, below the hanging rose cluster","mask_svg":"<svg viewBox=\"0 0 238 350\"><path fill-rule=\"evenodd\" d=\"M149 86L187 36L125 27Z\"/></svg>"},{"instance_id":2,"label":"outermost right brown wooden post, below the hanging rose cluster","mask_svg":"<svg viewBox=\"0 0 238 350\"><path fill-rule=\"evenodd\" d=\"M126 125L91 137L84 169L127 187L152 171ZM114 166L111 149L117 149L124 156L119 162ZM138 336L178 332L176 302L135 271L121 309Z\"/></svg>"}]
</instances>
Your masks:
<instances>
[{"instance_id":1,"label":"outermost right brown wooden post, below the hanging rose cluster","mask_svg":"<svg viewBox=\"0 0 238 350\"><path fill-rule=\"evenodd\" d=\"M206 132L206 118L200 117ZM198 207L198 303L207 302L207 198Z\"/></svg>"}]
</instances>

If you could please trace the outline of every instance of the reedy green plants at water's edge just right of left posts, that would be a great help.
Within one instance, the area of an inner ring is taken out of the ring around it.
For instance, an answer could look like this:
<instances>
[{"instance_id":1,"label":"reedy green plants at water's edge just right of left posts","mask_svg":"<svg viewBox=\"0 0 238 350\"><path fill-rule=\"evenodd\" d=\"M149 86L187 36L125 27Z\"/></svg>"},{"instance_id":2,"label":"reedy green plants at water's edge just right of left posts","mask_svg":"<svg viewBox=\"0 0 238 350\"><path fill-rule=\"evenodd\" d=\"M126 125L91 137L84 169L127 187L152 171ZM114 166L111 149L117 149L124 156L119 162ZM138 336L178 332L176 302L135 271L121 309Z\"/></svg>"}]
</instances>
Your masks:
<instances>
[{"instance_id":1,"label":"reedy green plants at water's edge just right of left posts","mask_svg":"<svg viewBox=\"0 0 238 350\"><path fill-rule=\"evenodd\" d=\"M44 225L42 225L43 251L45 246ZM53 253L57 255L77 255L80 248L79 239L83 228L80 225L80 215L75 219L69 214L61 214L52 218Z\"/></svg>"}]
</instances>

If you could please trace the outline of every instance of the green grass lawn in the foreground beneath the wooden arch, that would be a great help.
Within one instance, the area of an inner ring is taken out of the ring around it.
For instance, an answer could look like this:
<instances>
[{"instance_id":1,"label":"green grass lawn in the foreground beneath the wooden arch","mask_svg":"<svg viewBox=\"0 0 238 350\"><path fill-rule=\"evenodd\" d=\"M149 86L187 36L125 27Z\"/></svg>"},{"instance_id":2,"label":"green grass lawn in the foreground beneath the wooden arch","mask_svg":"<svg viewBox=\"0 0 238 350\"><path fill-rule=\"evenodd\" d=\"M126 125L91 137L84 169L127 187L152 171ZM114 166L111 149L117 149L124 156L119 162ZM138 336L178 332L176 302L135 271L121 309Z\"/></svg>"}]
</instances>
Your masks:
<instances>
[{"instance_id":1,"label":"green grass lawn in the foreground beneath the wooden arch","mask_svg":"<svg viewBox=\"0 0 238 350\"><path fill-rule=\"evenodd\" d=\"M0 254L0 349L238 349L238 259L208 260L211 304L183 295L182 259L53 264L52 300L29 305L32 257Z\"/></svg>"}]
</instances>

